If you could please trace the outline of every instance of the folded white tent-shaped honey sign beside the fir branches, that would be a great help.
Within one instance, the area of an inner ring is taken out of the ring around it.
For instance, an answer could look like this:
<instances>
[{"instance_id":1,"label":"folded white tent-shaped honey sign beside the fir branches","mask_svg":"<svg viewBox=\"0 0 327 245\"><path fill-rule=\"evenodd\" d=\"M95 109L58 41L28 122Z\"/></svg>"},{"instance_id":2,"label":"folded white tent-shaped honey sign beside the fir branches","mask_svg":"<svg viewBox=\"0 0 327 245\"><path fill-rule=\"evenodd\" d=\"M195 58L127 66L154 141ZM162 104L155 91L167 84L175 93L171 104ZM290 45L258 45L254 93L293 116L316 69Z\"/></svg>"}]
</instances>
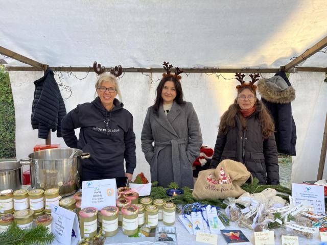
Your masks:
<instances>
[{"instance_id":1,"label":"folded white tent-shaped honey sign beside the fir branches","mask_svg":"<svg viewBox=\"0 0 327 245\"><path fill-rule=\"evenodd\" d=\"M56 240L63 244L77 244L81 234L76 213L51 204L51 216L52 233Z\"/></svg>"}]
</instances>

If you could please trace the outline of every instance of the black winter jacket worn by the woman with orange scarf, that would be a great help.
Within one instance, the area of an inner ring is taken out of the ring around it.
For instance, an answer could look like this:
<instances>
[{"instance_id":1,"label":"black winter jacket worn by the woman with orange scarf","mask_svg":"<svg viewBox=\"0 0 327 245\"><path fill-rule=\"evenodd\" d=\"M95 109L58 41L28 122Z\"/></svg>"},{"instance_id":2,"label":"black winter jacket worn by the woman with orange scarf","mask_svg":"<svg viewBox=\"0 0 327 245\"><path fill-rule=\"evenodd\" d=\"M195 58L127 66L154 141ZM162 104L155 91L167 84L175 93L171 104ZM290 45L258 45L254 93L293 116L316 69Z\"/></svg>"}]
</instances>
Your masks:
<instances>
[{"instance_id":1,"label":"black winter jacket worn by the woman with orange scarf","mask_svg":"<svg viewBox=\"0 0 327 245\"><path fill-rule=\"evenodd\" d=\"M275 137L263 139L261 124L256 118L258 111L247 117L247 129L242 130L239 116L235 116L236 127L226 135L218 133L211 168L224 159L242 162L253 178L260 184L279 184L278 155Z\"/></svg>"}]
</instances>

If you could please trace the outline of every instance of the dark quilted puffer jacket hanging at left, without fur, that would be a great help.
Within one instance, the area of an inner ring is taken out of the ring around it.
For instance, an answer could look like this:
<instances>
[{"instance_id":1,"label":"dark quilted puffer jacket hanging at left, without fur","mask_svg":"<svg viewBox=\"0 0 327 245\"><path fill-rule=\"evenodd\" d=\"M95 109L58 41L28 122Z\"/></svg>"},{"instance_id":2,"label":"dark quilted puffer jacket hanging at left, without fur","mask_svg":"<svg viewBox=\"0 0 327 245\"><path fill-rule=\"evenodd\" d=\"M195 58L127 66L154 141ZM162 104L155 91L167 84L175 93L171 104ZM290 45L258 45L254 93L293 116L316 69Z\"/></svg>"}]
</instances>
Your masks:
<instances>
[{"instance_id":1,"label":"dark quilted puffer jacket hanging at left, without fur","mask_svg":"<svg viewBox=\"0 0 327 245\"><path fill-rule=\"evenodd\" d=\"M57 130L57 137L61 136L61 120L66 115L58 84L53 71L47 69L42 78L36 80L34 99L32 103L31 124L33 129L38 129L38 137L46 139L49 130Z\"/></svg>"}]
</instances>

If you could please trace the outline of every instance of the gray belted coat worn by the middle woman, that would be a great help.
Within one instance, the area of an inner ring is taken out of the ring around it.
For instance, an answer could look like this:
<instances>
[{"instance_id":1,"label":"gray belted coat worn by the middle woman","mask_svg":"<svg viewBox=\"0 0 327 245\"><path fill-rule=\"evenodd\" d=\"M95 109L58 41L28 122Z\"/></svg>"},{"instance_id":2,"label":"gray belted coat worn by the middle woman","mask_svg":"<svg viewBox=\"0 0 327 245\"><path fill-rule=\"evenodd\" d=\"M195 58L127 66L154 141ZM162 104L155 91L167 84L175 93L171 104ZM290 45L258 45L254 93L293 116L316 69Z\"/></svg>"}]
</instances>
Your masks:
<instances>
[{"instance_id":1,"label":"gray belted coat worn by the middle woman","mask_svg":"<svg viewBox=\"0 0 327 245\"><path fill-rule=\"evenodd\" d=\"M202 134L192 103L174 101L167 116L162 104L158 115L149 107L141 141L152 182L167 187L174 181L180 187L193 188L192 163L200 155Z\"/></svg>"}]
</instances>

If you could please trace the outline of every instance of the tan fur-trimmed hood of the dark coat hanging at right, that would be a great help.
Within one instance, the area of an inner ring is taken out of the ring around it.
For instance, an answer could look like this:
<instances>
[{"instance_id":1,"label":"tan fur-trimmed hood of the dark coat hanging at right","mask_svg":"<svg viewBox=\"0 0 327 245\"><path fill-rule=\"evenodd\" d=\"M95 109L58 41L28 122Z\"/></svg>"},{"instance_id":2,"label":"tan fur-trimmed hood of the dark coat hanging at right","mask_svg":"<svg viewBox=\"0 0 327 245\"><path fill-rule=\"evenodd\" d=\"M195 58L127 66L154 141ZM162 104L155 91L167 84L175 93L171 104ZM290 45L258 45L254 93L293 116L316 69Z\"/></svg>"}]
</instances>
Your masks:
<instances>
[{"instance_id":1,"label":"tan fur-trimmed hood of the dark coat hanging at right","mask_svg":"<svg viewBox=\"0 0 327 245\"><path fill-rule=\"evenodd\" d=\"M284 71L279 71L272 78L260 79L257 85L261 96L268 102L287 104L295 100L295 89Z\"/></svg>"}]
</instances>

